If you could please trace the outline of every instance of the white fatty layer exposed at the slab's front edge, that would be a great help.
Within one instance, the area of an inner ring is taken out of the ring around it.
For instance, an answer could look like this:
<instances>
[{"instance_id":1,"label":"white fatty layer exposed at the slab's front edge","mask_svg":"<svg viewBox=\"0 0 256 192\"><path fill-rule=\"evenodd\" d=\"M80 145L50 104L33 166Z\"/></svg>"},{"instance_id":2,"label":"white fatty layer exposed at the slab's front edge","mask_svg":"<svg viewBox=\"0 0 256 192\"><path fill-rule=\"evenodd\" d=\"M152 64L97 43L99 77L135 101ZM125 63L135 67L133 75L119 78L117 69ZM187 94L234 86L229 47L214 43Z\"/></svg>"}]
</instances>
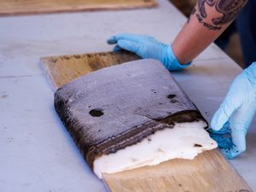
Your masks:
<instances>
[{"instance_id":1,"label":"white fatty layer exposed at the slab's front edge","mask_svg":"<svg viewBox=\"0 0 256 192\"><path fill-rule=\"evenodd\" d=\"M205 150L217 148L204 127L205 122L180 123L172 129L156 131L142 142L120 149L115 154L102 155L94 161L94 172L122 172L141 166L154 166L175 158L192 160Z\"/></svg>"}]
</instances>

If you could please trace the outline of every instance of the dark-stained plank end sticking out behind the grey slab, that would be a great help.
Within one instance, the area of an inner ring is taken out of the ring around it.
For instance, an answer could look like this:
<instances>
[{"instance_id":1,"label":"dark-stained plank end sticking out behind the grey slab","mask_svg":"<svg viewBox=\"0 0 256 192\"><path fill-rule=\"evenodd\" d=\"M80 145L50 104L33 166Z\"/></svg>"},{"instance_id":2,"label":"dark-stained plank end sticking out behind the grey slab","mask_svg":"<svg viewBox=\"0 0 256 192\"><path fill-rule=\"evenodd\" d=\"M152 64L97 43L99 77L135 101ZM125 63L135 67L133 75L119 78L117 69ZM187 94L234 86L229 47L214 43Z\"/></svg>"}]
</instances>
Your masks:
<instances>
[{"instance_id":1,"label":"dark-stained plank end sticking out behind the grey slab","mask_svg":"<svg viewBox=\"0 0 256 192\"><path fill-rule=\"evenodd\" d=\"M67 84L86 73L103 67L140 59L126 51L104 52L84 55L62 55L41 58L41 63L54 89Z\"/></svg>"}]
</instances>

